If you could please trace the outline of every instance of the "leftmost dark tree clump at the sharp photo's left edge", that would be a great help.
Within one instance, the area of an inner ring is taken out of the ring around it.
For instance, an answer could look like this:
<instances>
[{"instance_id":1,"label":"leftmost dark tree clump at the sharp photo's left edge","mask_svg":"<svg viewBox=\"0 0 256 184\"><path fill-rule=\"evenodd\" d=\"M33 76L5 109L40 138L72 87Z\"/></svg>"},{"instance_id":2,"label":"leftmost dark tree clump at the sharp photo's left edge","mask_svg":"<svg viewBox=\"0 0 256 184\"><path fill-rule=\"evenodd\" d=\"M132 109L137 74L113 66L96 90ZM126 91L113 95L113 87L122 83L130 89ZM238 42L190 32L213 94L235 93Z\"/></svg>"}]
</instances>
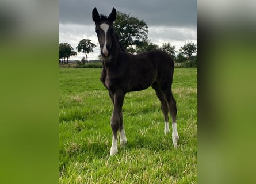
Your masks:
<instances>
[{"instance_id":1,"label":"leftmost dark tree clump at the sharp photo's left edge","mask_svg":"<svg viewBox=\"0 0 256 184\"><path fill-rule=\"evenodd\" d=\"M59 44L59 63L60 63L60 60L63 58L64 58L64 63L66 58L68 63L68 58L70 58L70 56L76 56L76 55L77 55L77 52L74 51L74 48L72 48L70 44L68 43Z\"/></svg>"}]
</instances>

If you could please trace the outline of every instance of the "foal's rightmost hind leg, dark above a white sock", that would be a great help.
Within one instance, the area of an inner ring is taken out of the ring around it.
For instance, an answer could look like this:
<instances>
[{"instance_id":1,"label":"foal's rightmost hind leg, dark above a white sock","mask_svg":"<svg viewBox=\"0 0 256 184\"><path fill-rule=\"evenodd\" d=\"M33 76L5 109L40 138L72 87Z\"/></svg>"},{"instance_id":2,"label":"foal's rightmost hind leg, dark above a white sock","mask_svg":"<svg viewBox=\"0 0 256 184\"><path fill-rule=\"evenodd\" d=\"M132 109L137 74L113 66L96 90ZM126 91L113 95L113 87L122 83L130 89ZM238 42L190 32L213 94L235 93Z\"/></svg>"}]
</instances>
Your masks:
<instances>
[{"instance_id":1,"label":"foal's rightmost hind leg, dark above a white sock","mask_svg":"<svg viewBox=\"0 0 256 184\"><path fill-rule=\"evenodd\" d=\"M179 140L179 135L178 135L178 129L177 129L177 124L176 124L176 115L177 115L177 107L176 107L176 101L173 97L173 94L171 93L171 89L169 90L163 90L163 94L165 95L165 99L168 102L170 114L171 114L171 120L172 120L172 128L173 128L173 146L174 148L177 148L178 145L178 140Z\"/></svg>"}]
</instances>

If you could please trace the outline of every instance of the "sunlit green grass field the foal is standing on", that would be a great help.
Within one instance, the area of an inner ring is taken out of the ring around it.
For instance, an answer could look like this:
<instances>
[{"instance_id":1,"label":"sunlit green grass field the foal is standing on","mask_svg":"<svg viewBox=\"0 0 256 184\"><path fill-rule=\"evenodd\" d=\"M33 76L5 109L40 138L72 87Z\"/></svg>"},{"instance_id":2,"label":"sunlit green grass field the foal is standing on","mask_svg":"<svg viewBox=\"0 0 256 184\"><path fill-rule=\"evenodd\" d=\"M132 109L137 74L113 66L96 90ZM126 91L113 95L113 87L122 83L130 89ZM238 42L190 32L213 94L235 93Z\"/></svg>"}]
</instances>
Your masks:
<instances>
[{"instance_id":1,"label":"sunlit green grass field the foal is standing on","mask_svg":"<svg viewBox=\"0 0 256 184\"><path fill-rule=\"evenodd\" d=\"M150 87L125 96L128 143L111 158L113 106L100 74L100 68L60 69L59 182L197 183L197 69L174 71L178 149L171 133L164 136L160 102Z\"/></svg>"}]
</instances>

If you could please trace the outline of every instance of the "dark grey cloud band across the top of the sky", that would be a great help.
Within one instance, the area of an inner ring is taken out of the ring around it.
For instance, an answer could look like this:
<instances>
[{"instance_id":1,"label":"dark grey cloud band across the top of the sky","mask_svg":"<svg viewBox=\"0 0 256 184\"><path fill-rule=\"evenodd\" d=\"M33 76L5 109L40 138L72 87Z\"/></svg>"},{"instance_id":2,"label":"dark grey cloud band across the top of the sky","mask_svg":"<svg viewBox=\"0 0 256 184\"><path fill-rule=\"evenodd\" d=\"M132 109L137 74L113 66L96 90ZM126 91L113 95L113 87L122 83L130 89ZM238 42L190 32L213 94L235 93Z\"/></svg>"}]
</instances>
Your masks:
<instances>
[{"instance_id":1,"label":"dark grey cloud band across the top of the sky","mask_svg":"<svg viewBox=\"0 0 256 184\"><path fill-rule=\"evenodd\" d=\"M94 7L97 7L100 14L106 15L111 12L112 7L115 7L117 11L131 13L131 16L143 19L148 26L197 26L197 1L195 0L61 0L60 22L92 25L91 11Z\"/></svg>"}]
</instances>

